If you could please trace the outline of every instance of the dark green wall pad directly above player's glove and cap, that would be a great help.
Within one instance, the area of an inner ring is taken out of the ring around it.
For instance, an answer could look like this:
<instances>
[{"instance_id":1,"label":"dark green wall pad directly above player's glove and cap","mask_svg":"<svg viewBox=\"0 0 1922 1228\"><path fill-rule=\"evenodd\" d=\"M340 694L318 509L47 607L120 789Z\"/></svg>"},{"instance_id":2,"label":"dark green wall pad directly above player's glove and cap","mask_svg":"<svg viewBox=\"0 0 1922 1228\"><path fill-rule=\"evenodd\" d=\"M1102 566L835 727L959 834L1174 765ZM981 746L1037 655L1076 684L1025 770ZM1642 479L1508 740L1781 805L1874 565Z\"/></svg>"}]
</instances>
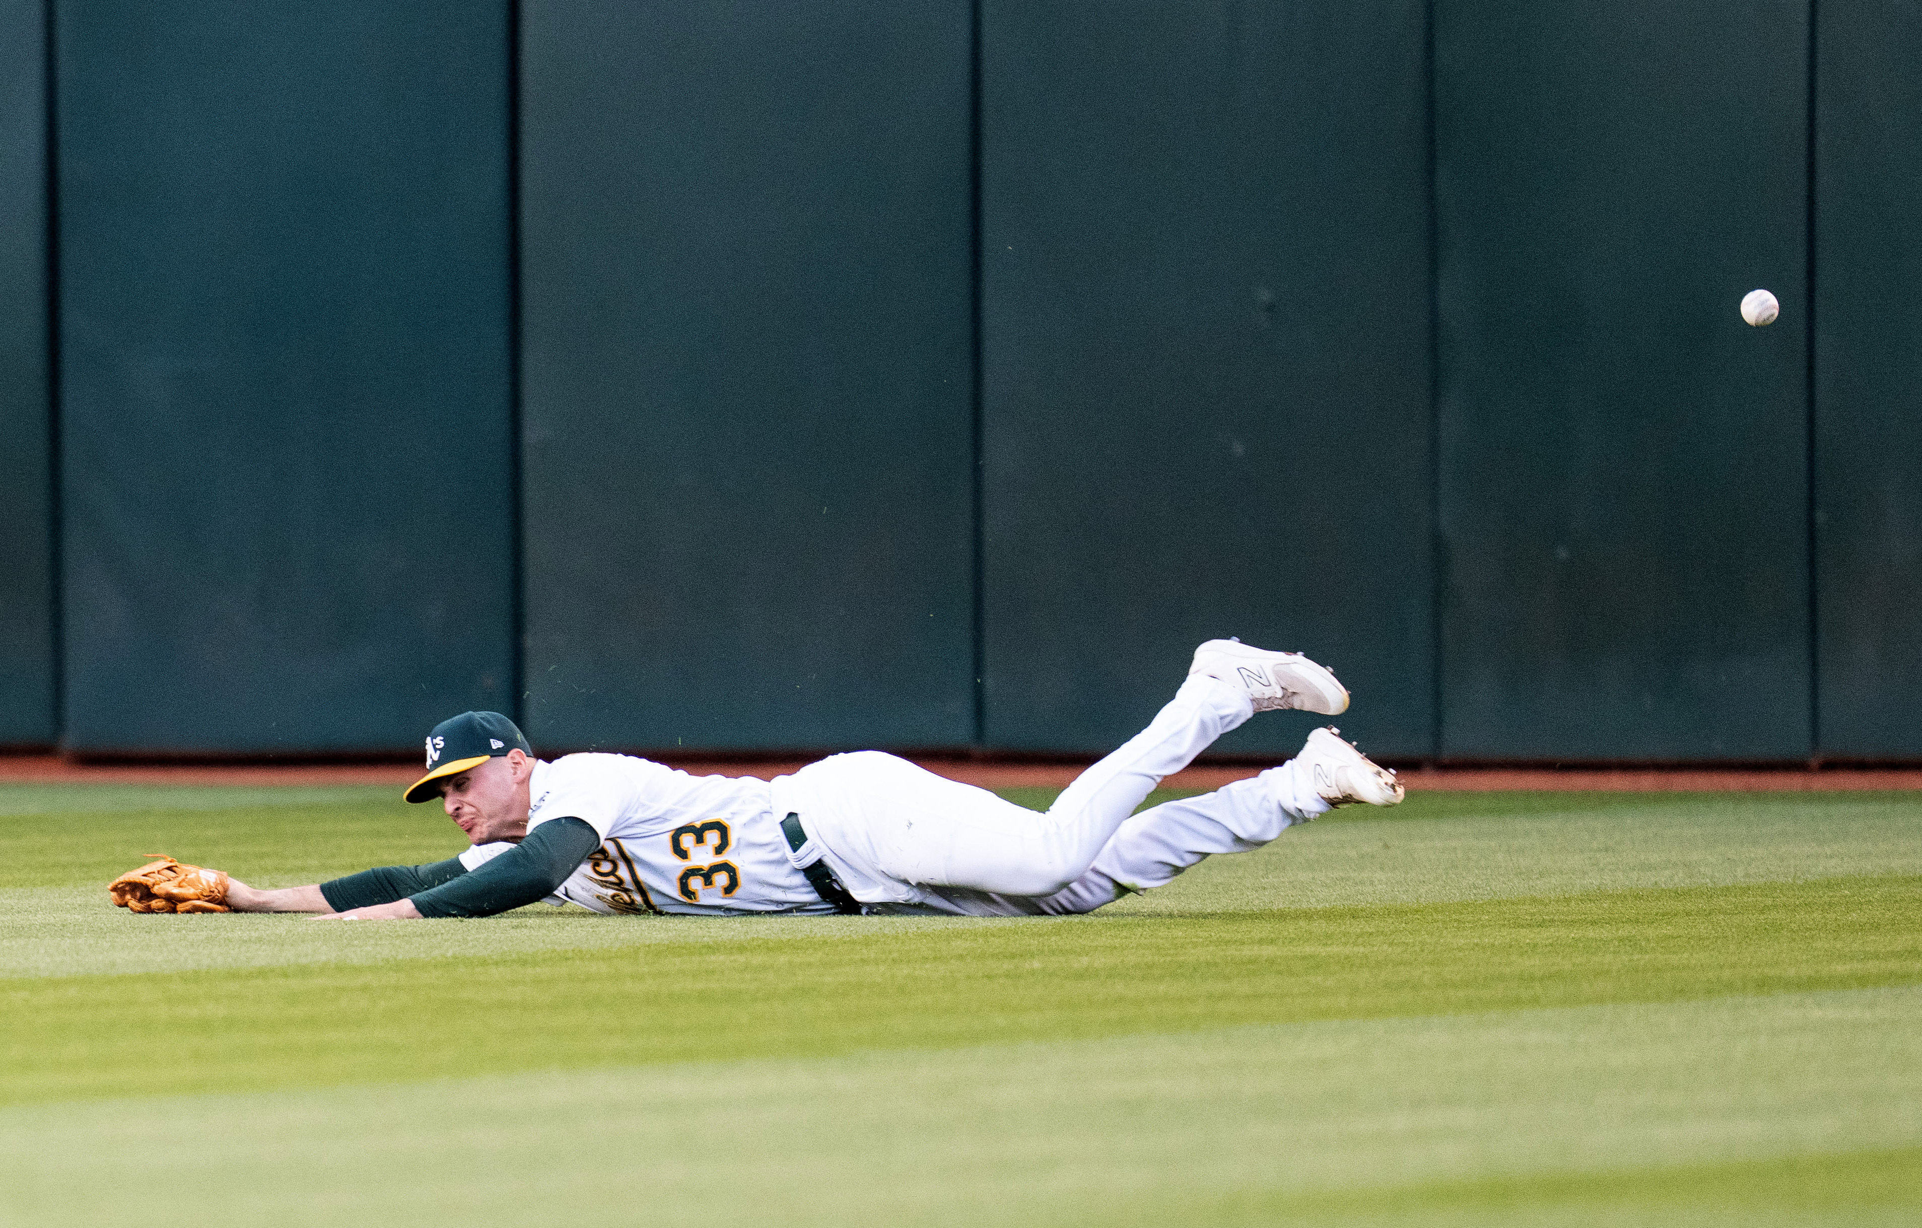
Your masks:
<instances>
[{"instance_id":1,"label":"dark green wall pad directly above player's glove and cap","mask_svg":"<svg viewBox=\"0 0 1922 1228\"><path fill-rule=\"evenodd\" d=\"M511 715L507 8L56 8L67 742Z\"/></svg>"}]
</instances>

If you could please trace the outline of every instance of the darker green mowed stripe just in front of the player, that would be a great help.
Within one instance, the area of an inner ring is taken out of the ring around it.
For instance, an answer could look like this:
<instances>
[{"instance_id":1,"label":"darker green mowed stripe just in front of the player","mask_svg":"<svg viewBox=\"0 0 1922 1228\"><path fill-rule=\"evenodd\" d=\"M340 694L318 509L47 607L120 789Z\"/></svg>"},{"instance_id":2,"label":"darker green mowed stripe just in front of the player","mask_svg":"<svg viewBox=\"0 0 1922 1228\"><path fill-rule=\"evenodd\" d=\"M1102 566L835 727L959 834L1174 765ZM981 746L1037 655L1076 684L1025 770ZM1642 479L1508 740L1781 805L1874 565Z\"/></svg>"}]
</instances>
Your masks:
<instances>
[{"instance_id":1,"label":"darker green mowed stripe just in front of the player","mask_svg":"<svg viewBox=\"0 0 1922 1228\"><path fill-rule=\"evenodd\" d=\"M0 990L0 1103L1916 980L1909 876L42 978Z\"/></svg>"}]
</instances>

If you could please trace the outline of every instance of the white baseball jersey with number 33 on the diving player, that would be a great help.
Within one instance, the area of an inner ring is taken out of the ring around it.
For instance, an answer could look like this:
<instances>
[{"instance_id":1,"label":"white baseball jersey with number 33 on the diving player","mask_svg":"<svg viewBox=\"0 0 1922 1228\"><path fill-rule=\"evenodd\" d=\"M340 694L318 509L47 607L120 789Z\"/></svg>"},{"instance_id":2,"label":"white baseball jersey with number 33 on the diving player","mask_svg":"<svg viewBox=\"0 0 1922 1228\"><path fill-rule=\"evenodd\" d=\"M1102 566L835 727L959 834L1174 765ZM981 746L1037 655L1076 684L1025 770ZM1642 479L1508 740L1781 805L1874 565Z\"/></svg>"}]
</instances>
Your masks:
<instances>
[{"instance_id":1,"label":"white baseball jersey with number 33 on the diving player","mask_svg":"<svg viewBox=\"0 0 1922 1228\"><path fill-rule=\"evenodd\" d=\"M602 846L548 897L596 913L832 913L794 869L765 780L690 776L632 755L536 763L527 830L580 819ZM461 853L479 869L511 849Z\"/></svg>"}]
</instances>

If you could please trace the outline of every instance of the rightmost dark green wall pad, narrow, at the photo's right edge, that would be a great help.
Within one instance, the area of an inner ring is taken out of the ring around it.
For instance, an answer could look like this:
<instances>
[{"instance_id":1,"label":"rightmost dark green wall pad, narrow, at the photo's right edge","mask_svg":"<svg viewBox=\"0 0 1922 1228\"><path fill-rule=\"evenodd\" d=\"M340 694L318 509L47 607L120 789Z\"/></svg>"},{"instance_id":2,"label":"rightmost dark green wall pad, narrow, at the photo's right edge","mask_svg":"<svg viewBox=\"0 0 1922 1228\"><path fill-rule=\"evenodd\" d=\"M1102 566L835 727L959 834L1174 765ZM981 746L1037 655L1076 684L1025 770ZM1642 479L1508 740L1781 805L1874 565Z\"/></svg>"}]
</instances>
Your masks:
<instances>
[{"instance_id":1,"label":"rightmost dark green wall pad, narrow, at the photo's right edge","mask_svg":"<svg viewBox=\"0 0 1922 1228\"><path fill-rule=\"evenodd\" d=\"M1818 749L1922 757L1922 10L1818 4Z\"/></svg>"}]
</instances>

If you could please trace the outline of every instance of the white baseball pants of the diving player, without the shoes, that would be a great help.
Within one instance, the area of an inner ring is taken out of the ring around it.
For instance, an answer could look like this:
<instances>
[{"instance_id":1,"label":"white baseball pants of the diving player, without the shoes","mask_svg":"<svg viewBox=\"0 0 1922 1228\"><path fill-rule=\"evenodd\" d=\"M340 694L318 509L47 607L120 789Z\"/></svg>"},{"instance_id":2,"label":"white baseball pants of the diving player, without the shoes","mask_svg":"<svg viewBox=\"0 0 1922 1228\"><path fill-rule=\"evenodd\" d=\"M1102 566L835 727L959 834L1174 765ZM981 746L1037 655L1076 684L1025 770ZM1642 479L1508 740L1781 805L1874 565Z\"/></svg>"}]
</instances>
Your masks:
<instances>
[{"instance_id":1,"label":"white baseball pants of the diving player, without the shoes","mask_svg":"<svg viewBox=\"0 0 1922 1228\"><path fill-rule=\"evenodd\" d=\"M1146 730L1040 815L882 751L832 755L776 778L775 815L798 813L807 828L798 865L825 855L855 899L882 911L1090 913L1328 809L1290 761L1134 815L1163 776L1251 711L1244 690L1188 678Z\"/></svg>"}]
</instances>

